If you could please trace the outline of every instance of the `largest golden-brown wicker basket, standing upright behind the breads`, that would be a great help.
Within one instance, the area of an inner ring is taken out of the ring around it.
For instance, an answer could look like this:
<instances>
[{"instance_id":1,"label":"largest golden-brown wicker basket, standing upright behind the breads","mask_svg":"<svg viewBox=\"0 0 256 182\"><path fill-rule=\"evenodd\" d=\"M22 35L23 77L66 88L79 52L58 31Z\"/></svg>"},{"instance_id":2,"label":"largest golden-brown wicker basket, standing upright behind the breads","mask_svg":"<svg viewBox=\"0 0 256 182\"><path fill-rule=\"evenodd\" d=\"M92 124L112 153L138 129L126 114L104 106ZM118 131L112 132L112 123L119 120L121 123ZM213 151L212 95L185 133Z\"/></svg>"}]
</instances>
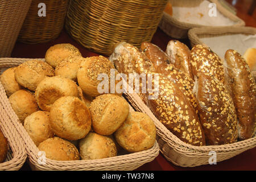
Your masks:
<instances>
[{"instance_id":1,"label":"largest golden-brown wicker basket, standing upright behind the breads","mask_svg":"<svg viewBox=\"0 0 256 182\"><path fill-rule=\"evenodd\" d=\"M150 41L168 0L71 0L65 28L82 46L110 55L125 41Z\"/></svg>"}]
</instances>

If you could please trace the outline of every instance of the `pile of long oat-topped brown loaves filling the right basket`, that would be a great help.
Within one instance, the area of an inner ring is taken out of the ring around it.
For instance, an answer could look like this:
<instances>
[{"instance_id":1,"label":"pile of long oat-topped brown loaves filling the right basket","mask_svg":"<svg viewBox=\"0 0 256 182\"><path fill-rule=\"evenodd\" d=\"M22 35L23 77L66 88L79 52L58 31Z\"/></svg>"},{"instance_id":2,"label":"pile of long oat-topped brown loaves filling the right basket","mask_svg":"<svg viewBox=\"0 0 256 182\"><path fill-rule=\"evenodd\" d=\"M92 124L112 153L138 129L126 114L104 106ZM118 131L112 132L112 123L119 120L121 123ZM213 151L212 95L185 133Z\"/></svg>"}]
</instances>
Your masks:
<instances>
[{"instance_id":1,"label":"pile of long oat-topped brown loaves filling the right basket","mask_svg":"<svg viewBox=\"0 0 256 182\"><path fill-rule=\"evenodd\" d=\"M150 90L139 96L183 142L221 145L253 137L256 85L246 61L236 51L228 50L224 62L203 45L190 50L170 40L164 52L148 42L141 48L121 42L109 59L120 73L158 74L159 96L148 99Z\"/></svg>"}]
</instances>

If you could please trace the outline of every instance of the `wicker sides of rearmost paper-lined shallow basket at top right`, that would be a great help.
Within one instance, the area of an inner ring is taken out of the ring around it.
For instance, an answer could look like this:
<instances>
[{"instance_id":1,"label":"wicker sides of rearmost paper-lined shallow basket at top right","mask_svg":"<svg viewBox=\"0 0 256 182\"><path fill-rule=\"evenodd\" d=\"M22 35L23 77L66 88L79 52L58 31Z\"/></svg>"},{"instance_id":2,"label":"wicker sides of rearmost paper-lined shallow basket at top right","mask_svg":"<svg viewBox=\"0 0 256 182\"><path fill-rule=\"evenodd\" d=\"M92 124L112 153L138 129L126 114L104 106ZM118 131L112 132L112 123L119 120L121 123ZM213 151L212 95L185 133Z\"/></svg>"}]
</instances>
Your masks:
<instances>
[{"instance_id":1,"label":"wicker sides of rearmost paper-lined shallow basket at top right","mask_svg":"<svg viewBox=\"0 0 256 182\"><path fill-rule=\"evenodd\" d=\"M169 0L172 6L186 6L192 7L197 6L203 0ZM216 3L217 10L228 17L230 20L236 22L232 27L242 27L245 26L245 22L238 18L236 15L231 13L229 10L225 9L217 0L208 0L210 2ZM207 27L199 24L180 22L176 18L172 17L167 13L163 13L163 17L159 23L159 28L162 29L167 35L175 39L184 39L188 37L188 30L195 27ZM209 26L208 26L209 27Z\"/></svg>"}]
</instances>

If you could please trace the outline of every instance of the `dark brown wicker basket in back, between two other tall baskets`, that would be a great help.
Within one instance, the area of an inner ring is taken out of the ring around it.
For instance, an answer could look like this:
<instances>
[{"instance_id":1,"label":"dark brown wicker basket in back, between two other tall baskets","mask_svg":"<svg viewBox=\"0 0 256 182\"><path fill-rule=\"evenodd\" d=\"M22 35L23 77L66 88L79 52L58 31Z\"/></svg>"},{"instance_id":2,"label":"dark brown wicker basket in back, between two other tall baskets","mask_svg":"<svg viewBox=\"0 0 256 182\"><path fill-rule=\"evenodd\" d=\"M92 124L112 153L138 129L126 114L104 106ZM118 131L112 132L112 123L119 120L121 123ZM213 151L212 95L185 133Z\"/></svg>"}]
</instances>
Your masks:
<instances>
[{"instance_id":1,"label":"dark brown wicker basket in back, between two other tall baskets","mask_svg":"<svg viewBox=\"0 0 256 182\"><path fill-rule=\"evenodd\" d=\"M38 11L42 7L38 7L38 5L42 2L46 5L46 16L38 15ZM56 39L63 29L67 9L68 0L32 0L20 29L18 41L37 44Z\"/></svg>"}]
</instances>

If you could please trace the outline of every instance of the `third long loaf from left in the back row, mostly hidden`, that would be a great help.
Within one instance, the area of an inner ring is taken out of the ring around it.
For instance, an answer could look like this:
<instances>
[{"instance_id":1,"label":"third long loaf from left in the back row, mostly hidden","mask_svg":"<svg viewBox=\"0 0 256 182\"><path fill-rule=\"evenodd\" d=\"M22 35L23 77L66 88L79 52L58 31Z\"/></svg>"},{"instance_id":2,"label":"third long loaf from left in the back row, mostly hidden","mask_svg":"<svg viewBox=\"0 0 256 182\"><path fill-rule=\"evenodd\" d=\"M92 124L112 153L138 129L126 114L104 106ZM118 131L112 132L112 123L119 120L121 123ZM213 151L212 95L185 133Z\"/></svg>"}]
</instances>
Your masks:
<instances>
[{"instance_id":1,"label":"third long loaf from left in the back row, mostly hidden","mask_svg":"<svg viewBox=\"0 0 256 182\"><path fill-rule=\"evenodd\" d=\"M189 78L193 79L191 63L189 60L190 50L185 44L178 40L170 40L166 47L166 53L175 68L187 73Z\"/></svg>"}]
</instances>

